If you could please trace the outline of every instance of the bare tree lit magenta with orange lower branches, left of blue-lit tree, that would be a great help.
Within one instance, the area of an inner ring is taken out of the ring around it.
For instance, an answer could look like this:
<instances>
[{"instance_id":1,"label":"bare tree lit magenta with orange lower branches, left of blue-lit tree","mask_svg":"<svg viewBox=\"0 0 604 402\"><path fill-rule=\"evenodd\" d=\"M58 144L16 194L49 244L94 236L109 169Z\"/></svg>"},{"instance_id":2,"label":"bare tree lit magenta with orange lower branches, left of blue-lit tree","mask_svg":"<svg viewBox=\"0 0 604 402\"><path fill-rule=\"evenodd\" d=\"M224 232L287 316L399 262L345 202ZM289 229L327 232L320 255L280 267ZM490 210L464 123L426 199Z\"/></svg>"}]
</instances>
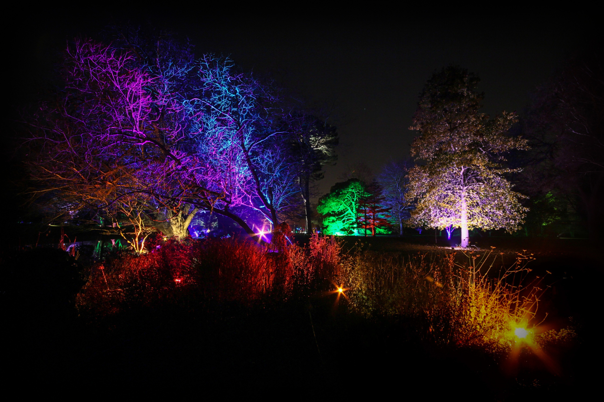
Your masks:
<instances>
[{"instance_id":1,"label":"bare tree lit magenta with orange lower branches, left of blue-lit tree","mask_svg":"<svg viewBox=\"0 0 604 402\"><path fill-rule=\"evenodd\" d=\"M162 46L170 51L169 43L156 44ZM189 209L184 195L205 191L189 179L198 160L184 141L188 121L198 116L188 116L175 89L187 64L155 58L151 74L147 61L92 41L66 50L63 89L39 105L26 143L31 193L62 219L92 215L104 225L126 209L146 215L152 227L171 228L175 220L160 210L182 214ZM167 233L187 236L177 229Z\"/></svg>"}]
</instances>

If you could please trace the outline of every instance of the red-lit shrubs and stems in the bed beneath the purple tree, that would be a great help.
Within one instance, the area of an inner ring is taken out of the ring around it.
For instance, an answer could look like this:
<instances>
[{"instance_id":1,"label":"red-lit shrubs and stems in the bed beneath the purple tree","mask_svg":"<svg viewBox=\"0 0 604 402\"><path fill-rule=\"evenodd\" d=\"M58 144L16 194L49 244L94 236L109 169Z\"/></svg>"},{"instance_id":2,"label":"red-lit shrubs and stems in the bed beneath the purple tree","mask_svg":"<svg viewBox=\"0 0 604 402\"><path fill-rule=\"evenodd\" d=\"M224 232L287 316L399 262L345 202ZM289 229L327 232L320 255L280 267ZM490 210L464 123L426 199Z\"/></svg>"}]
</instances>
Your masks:
<instances>
[{"instance_id":1,"label":"red-lit shrubs and stems in the bed beneath the purple tree","mask_svg":"<svg viewBox=\"0 0 604 402\"><path fill-rule=\"evenodd\" d=\"M338 274L339 243L315 235L301 248L278 227L272 243L205 239L169 240L149 253L97 265L77 298L81 312L113 315L131 307L189 306L266 298L284 300L329 287Z\"/></svg>"}]
</instances>

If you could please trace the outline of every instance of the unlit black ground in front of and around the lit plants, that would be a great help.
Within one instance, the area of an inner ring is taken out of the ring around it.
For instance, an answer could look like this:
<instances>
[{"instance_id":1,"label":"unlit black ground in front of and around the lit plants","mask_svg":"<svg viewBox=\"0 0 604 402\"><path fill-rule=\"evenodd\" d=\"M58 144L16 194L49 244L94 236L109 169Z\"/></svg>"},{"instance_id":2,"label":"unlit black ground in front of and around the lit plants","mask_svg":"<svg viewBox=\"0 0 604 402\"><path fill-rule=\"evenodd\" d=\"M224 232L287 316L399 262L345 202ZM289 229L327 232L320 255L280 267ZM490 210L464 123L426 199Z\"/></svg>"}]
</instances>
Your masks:
<instances>
[{"instance_id":1,"label":"unlit black ground in front of and around the lit plants","mask_svg":"<svg viewBox=\"0 0 604 402\"><path fill-rule=\"evenodd\" d=\"M374 249L403 253L430 245L420 238L368 242ZM505 357L479 350L435 347L420 340L413 322L362 318L343 299L335 306L333 296L245 309L214 306L206 312L138 310L90 322L74 308L82 283L67 273L70 262L61 251L5 252L4 378L25 394L93 389L124 395L129 389L288 399L391 392L471 400L576 396L599 382L600 371L602 264L593 248L587 250L534 247L533 271L551 272L551 292L539 308L547 310L550 325L571 324L579 334L573 348L550 351L557 372L528 351L509 365ZM18 264L22 275L7 275L10 264Z\"/></svg>"}]
</instances>

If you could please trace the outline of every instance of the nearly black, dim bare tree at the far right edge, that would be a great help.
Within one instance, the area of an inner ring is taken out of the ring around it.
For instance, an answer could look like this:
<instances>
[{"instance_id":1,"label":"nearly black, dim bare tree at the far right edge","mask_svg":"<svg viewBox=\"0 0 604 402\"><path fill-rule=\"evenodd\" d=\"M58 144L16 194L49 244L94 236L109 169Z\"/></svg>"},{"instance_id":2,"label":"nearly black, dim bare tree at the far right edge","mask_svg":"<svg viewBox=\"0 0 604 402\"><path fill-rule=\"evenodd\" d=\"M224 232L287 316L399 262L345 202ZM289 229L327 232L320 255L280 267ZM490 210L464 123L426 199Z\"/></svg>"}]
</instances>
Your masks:
<instances>
[{"instance_id":1,"label":"nearly black, dim bare tree at the far right edge","mask_svg":"<svg viewBox=\"0 0 604 402\"><path fill-rule=\"evenodd\" d=\"M531 149L523 155L519 175L519 186L532 197L547 198L551 192L558 202L564 200L569 213L586 223L591 239L604 224L602 45L571 57L536 92L523 119Z\"/></svg>"}]
</instances>

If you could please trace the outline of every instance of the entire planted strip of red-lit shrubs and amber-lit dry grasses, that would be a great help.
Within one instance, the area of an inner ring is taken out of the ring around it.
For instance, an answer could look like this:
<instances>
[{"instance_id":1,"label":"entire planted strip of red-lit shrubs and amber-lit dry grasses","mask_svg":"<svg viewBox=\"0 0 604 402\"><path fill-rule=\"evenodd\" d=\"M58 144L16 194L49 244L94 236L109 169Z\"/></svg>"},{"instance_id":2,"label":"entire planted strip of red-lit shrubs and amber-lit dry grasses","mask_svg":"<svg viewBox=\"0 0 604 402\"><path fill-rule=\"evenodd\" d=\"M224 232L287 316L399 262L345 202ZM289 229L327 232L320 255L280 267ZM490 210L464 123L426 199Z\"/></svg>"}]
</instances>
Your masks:
<instances>
[{"instance_id":1,"label":"entire planted strip of red-lit shrubs and amber-lit dry grasses","mask_svg":"<svg viewBox=\"0 0 604 402\"><path fill-rule=\"evenodd\" d=\"M440 345L507 351L519 342L517 328L533 338L538 333L542 290L525 283L531 256L517 254L504 266L493 250L343 252L335 237L315 235L300 247L288 236L278 230L269 245L234 239L157 244L150 253L97 266L77 306L91 316L162 303L250 306L325 294L337 283L355 312L408 319L421 338ZM557 335L533 343L548 336Z\"/></svg>"}]
</instances>

